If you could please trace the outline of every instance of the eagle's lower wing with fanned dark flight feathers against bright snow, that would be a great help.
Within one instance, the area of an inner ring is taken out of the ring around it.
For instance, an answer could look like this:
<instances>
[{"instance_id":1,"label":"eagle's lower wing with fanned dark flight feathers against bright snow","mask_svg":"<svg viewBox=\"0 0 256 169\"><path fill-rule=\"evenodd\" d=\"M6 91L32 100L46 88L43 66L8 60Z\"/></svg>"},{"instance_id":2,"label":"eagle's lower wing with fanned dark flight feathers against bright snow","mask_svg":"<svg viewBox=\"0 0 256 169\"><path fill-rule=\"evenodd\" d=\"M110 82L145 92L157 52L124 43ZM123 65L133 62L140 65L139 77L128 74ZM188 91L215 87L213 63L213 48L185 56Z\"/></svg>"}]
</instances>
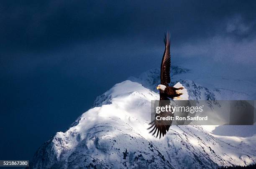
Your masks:
<instances>
[{"instance_id":1,"label":"eagle's lower wing with fanned dark flight feathers against bright snow","mask_svg":"<svg viewBox=\"0 0 256 169\"><path fill-rule=\"evenodd\" d=\"M164 97L163 95L163 93L160 93L159 107L165 107L166 105L169 105L169 98ZM161 111L161 113L155 115L155 118L156 116L167 117L173 116L173 114L169 111ZM169 128L172 125L172 121L154 119L154 121L152 121L150 125L151 126L148 129L150 129L151 131L149 133L153 132L152 135L154 136L157 132L156 138L159 136L160 139L161 136L164 136L166 132L169 131Z\"/></svg>"}]
</instances>

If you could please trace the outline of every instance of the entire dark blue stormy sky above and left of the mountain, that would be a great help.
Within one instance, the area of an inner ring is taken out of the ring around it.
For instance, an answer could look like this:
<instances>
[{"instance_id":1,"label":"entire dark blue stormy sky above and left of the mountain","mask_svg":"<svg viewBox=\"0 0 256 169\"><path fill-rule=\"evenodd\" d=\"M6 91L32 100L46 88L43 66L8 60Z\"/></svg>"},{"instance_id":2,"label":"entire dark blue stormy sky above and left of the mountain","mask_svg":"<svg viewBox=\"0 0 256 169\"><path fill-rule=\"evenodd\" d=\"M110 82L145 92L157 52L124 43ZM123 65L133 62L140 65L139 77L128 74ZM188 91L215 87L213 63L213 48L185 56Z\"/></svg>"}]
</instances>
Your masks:
<instances>
[{"instance_id":1,"label":"entire dark blue stormy sky above and left of the mountain","mask_svg":"<svg viewBox=\"0 0 256 169\"><path fill-rule=\"evenodd\" d=\"M0 159L31 159L96 96L159 67L167 30L172 63L255 82L253 0L1 1Z\"/></svg>"}]
</instances>

